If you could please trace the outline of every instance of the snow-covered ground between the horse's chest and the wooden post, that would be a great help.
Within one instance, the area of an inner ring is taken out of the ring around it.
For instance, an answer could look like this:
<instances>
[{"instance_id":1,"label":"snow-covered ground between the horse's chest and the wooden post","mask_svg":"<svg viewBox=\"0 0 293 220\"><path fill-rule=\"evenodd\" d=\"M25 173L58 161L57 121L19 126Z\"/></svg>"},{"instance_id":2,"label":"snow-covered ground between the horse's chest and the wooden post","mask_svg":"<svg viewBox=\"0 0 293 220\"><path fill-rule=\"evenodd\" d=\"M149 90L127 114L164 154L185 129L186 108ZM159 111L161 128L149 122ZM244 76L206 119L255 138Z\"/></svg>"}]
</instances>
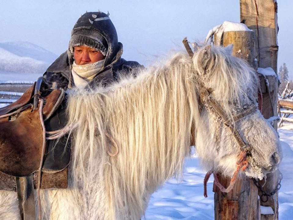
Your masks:
<instances>
[{"instance_id":1,"label":"snow-covered ground between the horse's chest and the wooden post","mask_svg":"<svg viewBox=\"0 0 293 220\"><path fill-rule=\"evenodd\" d=\"M151 196L145 220L153 219L214 219L214 179L207 183L208 197L203 196L202 170L197 156L185 160L183 180L178 183L174 178L166 182Z\"/></svg>"}]
</instances>

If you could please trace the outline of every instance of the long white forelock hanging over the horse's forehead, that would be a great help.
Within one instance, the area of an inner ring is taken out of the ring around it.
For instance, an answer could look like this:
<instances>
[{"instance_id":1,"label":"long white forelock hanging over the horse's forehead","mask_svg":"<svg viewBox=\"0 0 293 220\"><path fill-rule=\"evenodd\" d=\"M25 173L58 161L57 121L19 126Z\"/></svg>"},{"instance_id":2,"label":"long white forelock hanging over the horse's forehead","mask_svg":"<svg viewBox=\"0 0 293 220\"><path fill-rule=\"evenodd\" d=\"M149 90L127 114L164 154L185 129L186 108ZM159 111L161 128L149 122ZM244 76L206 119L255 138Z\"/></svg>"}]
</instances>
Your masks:
<instances>
[{"instance_id":1,"label":"long white forelock hanging over the horse's forehead","mask_svg":"<svg viewBox=\"0 0 293 220\"><path fill-rule=\"evenodd\" d=\"M249 102L251 93L257 91L258 78L254 70L244 60L229 55L224 48L202 48L193 59L204 85L214 91L215 98L227 111L231 104L240 106Z\"/></svg>"}]
</instances>

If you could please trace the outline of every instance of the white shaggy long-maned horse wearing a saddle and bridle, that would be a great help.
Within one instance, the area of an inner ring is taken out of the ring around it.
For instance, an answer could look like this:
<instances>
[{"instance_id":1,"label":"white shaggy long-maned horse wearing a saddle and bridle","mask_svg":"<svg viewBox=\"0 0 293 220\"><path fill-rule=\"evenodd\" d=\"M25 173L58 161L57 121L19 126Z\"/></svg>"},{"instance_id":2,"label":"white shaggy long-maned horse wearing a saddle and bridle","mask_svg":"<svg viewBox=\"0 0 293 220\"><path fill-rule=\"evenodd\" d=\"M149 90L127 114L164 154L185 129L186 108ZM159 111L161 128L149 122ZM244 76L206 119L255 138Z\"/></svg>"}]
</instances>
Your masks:
<instances>
[{"instance_id":1,"label":"white shaggy long-maned horse wearing a saddle and bridle","mask_svg":"<svg viewBox=\"0 0 293 220\"><path fill-rule=\"evenodd\" d=\"M281 152L257 110L257 86L244 61L207 46L108 87L70 91L68 188L41 190L42 219L137 220L151 194L180 177L191 145L207 170L232 177L241 161L242 173L263 178ZM19 218L16 193L2 191L0 219Z\"/></svg>"}]
</instances>

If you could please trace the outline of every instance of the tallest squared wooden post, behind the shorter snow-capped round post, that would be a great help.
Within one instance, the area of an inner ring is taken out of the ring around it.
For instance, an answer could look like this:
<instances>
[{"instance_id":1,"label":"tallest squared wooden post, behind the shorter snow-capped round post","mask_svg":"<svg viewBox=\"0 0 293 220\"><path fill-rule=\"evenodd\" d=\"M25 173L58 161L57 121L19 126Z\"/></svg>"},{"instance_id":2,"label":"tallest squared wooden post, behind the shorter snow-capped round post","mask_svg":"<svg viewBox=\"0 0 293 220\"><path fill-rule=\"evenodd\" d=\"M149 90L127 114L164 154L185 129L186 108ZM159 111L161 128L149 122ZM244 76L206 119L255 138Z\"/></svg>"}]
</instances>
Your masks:
<instances>
[{"instance_id":1,"label":"tallest squared wooden post, behind the shorter snow-capped round post","mask_svg":"<svg viewBox=\"0 0 293 220\"><path fill-rule=\"evenodd\" d=\"M271 67L276 76L266 76L270 82L269 87L263 86L263 106L262 114L265 118L277 116L277 1L276 0L240 0L240 21L255 31L255 58L258 67ZM264 81L264 77L260 77ZM265 85L265 83L262 83ZM277 130L277 121L273 127ZM268 174L263 190L271 193L276 190L279 181L279 171ZM262 193L259 191L259 195ZM271 215L261 215L261 219L278 219L278 192L268 197L268 201L261 201L262 206L270 206L273 209Z\"/></svg>"}]
</instances>

